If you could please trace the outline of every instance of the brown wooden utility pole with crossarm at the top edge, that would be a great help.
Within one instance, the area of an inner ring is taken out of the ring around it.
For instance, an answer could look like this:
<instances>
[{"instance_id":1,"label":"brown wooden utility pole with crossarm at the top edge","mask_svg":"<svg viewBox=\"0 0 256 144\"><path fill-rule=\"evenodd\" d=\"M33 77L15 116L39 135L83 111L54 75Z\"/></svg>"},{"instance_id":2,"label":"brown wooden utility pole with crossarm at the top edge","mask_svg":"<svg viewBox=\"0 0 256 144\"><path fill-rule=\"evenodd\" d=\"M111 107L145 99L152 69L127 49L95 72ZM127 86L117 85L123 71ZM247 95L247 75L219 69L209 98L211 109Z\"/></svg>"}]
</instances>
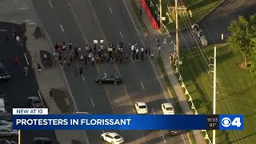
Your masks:
<instances>
[{"instance_id":1,"label":"brown wooden utility pole with crossarm at the top edge","mask_svg":"<svg viewBox=\"0 0 256 144\"><path fill-rule=\"evenodd\" d=\"M179 69L178 14L179 13L185 13L186 12L186 7L185 6L178 6L178 0L175 0L175 6L172 7L172 9L173 9L172 13L175 14L175 21L176 21L176 55L177 55L176 66L178 66L178 69Z\"/></svg>"}]
</instances>

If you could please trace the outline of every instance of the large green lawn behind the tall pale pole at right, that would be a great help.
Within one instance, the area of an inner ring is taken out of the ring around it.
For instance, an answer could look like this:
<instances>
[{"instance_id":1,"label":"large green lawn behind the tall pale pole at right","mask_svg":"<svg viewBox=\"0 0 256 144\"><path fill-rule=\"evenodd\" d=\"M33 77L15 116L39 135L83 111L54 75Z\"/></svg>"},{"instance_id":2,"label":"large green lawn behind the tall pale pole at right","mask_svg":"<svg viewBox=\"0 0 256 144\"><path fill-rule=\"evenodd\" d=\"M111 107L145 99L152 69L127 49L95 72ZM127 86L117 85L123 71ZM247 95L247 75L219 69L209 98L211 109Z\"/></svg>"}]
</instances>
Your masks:
<instances>
[{"instance_id":1,"label":"large green lawn behind the tall pale pole at right","mask_svg":"<svg viewBox=\"0 0 256 144\"><path fill-rule=\"evenodd\" d=\"M217 46L217 114L243 114L244 130L217 131L218 143L256 143L256 83L249 70L238 65L242 55L233 54L227 45ZM201 49L214 56L214 46ZM206 57L206 61L208 61ZM212 114L213 74L208 73L199 49L181 50L180 73L199 114ZM200 68L200 69L199 69ZM208 131L210 138L212 132Z\"/></svg>"}]
</instances>

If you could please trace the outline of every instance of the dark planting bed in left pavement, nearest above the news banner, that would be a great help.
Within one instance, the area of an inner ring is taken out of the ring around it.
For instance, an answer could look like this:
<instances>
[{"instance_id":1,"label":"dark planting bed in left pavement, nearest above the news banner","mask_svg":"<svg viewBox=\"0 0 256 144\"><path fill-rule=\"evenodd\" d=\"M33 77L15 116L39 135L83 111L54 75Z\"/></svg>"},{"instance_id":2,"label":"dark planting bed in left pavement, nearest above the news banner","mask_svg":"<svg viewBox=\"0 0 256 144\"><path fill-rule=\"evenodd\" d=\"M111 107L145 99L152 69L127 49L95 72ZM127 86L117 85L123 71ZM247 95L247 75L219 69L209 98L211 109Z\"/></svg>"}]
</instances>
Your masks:
<instances>
[{"instance_id":1,"label":"dark planting bed in left pavement, nearest above the news banner","mask_svg":"<svg viewBox=\"0 0 256 144\"><path fill-rule=\"evenodd\" d=\"M52 88L50 90L50 97L54 98L54 102L58 106L58 109L61 110L62 114L71 112L70 101L67 98L65 90Z\"/></svg>"}]
</instances>

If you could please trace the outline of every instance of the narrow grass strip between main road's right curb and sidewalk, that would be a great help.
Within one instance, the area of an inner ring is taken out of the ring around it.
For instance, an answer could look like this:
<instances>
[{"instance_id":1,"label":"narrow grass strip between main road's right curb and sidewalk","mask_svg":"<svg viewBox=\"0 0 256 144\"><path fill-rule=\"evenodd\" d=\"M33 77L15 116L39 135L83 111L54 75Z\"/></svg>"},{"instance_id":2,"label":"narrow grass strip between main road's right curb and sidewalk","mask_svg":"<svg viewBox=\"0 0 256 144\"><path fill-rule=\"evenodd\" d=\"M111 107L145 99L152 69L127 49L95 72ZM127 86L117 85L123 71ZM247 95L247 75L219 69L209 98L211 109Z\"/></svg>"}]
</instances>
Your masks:
<instances>
[{"instance_id":1,"label":"narrow grass strip between main road's right curb and sidewalk","mask_svg":"<svg viewBox=\"0 0 256 144\"><path fill-rule=\"evenodd\" d=\"M162 78L166 82L167 89L170 91L170 94L173 96L172 99L175 102L176 110L177 110L178 114L182 114L183 113L182 112L182 108L181 108L181 106L178 103L177 95L175 94L174 88L173 88L173 86L171 86L170 80L169 80L169 78L168 78L168 76L166 74L166 69L165 69L165 67L163 65L162 58L158 57L156 62L157 62L158 68L160 70L160 73L162 75Z\"/></svg>"}]
</instances>

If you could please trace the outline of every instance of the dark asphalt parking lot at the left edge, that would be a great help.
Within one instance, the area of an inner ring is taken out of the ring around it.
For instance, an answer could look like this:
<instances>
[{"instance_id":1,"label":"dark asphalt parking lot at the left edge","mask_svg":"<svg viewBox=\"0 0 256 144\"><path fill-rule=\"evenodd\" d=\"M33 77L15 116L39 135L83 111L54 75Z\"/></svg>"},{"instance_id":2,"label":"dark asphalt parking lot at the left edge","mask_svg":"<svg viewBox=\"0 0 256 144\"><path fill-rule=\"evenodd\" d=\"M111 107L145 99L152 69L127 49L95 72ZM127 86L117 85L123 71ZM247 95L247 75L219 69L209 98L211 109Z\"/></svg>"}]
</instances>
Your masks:
<instances>
[{"instance_id":1,"label":"dark asphalt parking lot at the left edge","mask_svg":"<svg viewBox=\"0 0 256 144\"><path fill-rule=\"evenodd\" d=\"M8 101L8 112L12 113L12 107L27 107L26 99L28 97L38 97L38 82L34 75L34 70L29 67L28 75L24 76L22 73L22 67L26 65L26 59L24 57L25 47L20 47L12 40L11 30L17 25L0 22L0 62L6 66L11 80L10 82L0 83L0 96ZM8 30L6 32L5 30ZM9 42L6 42L6 34L9 35ZM14 65L14 58L19 58L19 66ZM55 134L53 130L45 131L21 131L22 144L32 143L33 138L36 137L48 137L56 142ZM10 138L15 140L16 138Z\"/></svg>"}]
</instances>

